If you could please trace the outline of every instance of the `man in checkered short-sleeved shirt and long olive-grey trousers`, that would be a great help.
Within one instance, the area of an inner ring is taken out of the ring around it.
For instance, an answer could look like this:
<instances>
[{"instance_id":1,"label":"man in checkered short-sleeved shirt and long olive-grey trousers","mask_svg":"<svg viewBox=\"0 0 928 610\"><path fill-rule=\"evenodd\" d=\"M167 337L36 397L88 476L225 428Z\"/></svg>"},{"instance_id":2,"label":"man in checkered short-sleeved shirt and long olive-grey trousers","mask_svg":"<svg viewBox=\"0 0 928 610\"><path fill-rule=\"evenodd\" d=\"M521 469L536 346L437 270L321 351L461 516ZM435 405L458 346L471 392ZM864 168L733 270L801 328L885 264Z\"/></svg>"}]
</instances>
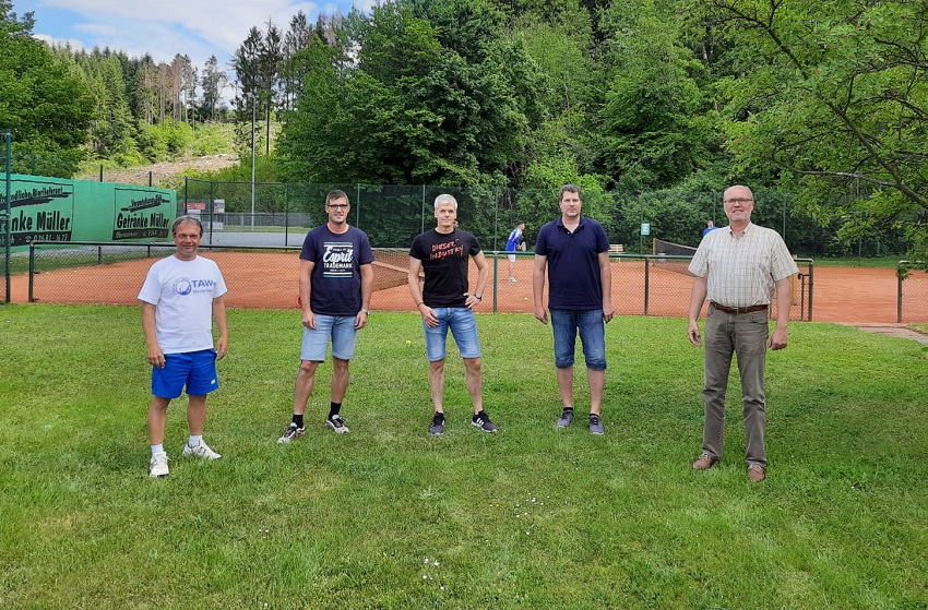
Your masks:
<instances>
[{"instance_id":1,"label":"man in checkered short-sleeved shirt and long olive-grey trousers","mask_svg":"<svg viewBox=\"0 0 928 610\"><path fill-rule=\"evenodd\" d=\"M702 345L699 314L709 297L705 316L705 428L697 470L722 459L725 391L731 356L738 357L745 417L746 464L754 482L766 478L766 350L786 347L793 304L793 279L798 267L783 238L773 229L751 224L754 196L747 187L730 187L723 195L728 226L707 234L689 271L695 276L690 297L690 343ZM776 325L770 334L770 306L776 298Z\"/></svg>"}]
</instances>

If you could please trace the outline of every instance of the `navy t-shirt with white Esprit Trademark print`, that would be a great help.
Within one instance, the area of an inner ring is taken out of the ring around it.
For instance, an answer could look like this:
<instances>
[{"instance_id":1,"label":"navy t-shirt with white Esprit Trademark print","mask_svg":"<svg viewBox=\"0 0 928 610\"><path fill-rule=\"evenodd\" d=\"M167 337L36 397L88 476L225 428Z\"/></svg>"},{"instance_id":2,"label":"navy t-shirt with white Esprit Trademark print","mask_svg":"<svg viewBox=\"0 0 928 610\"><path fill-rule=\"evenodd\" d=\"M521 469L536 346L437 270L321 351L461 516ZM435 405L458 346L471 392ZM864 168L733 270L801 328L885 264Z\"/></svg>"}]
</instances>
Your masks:
<instances>
[{"instance_id":1,"label":"navy t-shirt with white Esprit Trademark print","mask_svg":"<svg viewBox=\"0 0 928 610\"><path fill-rule=\"evenodd\" d=\"M357 315L361 310L361 265L373 262L367 234L355 227L337 235L329 225L316 227L306 235L305 261L316 266L310 274L312 290L309 308L322 315Z\"/></svg>"}]
</instances>

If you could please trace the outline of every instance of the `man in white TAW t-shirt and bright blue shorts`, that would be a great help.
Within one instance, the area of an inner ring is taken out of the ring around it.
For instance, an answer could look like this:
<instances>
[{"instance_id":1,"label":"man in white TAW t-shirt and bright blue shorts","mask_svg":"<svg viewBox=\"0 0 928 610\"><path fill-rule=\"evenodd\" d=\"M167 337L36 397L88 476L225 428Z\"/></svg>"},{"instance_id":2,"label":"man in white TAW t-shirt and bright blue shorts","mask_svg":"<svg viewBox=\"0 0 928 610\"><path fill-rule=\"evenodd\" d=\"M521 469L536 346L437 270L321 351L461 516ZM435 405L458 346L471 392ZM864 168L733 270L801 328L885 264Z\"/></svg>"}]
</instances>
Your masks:
<instances>
[{"instance_id":1,"label":"man in white TAW t-shirt and bright blue shorts","mask_svg":"<svg viewBox=\"0 0 928 610\"><path fill-rule=\"evenodd\" d=\"M203 225L195 216L181 216L170 228L177 252L152 265L139 300L142 330L152 364L152 403L148 406L148 441L152 478L169 474L164 448L167 407L187 388L187 423L190 438L185 456L222 457L203 441L206 395L219 387L216 360L228 351L229 333L223 296L226 283L218 265L197 254ZM213 347L213 320L219 338Z\"/></svg>"}]
</instances>

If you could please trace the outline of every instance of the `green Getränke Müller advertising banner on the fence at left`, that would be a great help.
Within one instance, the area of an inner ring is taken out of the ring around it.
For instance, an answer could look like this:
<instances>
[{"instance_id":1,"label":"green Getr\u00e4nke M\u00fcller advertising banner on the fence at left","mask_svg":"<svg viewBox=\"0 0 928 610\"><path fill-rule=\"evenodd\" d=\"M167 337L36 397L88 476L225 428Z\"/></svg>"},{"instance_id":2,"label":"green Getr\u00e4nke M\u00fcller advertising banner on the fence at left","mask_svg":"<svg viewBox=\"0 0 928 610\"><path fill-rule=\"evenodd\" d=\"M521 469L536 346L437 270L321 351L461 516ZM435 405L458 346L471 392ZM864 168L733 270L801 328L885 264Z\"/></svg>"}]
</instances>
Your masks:
<instances>
[{"instance_id":1,"label":"green Getr\u00e4nke M\u00fcller advertising banner on the fence at left","mask_svg":"<svg viewBox=\"0 0 928 610\"><path fill-rule=\"evenodd\" d=\"M174 191L109 182L11 175L10 244L29 242L162 240L177 214ZM0 210L7 208L5 189ZM0 247L5 235L0 236Z\"/></svg>"}]
</instances>

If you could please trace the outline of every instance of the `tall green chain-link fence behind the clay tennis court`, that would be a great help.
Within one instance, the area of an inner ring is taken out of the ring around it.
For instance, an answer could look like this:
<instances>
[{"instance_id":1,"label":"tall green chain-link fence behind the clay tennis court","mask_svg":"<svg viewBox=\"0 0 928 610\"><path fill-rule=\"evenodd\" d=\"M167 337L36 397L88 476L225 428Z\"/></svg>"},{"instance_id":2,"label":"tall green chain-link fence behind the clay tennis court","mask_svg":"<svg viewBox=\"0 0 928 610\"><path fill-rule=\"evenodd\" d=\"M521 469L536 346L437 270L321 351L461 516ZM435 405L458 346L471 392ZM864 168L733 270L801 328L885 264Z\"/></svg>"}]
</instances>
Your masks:
<instances>
[{"instance_id":1,"label":"tall green chain-link fence behind the clay tennis court","mask_svg":"<svg viewBox=\"0 0 928 610\"><path fill-rule=\"evenodd\" d=\"M374 247L406 248L413 238L435 226L433 202L450 193L459 203L461 227L477 236L485 250L503 250L515 224L524 220L531 246L542 225L560 215L558 193L537 189L464 189L435 186L307 184L215 182L187 179L178 193L178 213L195 211L225 231L284 232L296 246L302 235L325 220L325 194L341 189L352 203L349 222L370 237ZM835 227L822 227L784 193L758 192L752 219L778 231L799 256L894 255L906 250L902 235L887 231L854 243L833 239ZM695 247L706 220L727 224L722 193L681 191L586 191L583 214L599 220L610 243L628 253L652 253L652 238ZM213 231L215 236L217 230ZM270 238L269 238L270 240ZM207 236L207 242L211 241ZM229 241L219 241L230 243Z\"/></svg>"}]
</instances>

